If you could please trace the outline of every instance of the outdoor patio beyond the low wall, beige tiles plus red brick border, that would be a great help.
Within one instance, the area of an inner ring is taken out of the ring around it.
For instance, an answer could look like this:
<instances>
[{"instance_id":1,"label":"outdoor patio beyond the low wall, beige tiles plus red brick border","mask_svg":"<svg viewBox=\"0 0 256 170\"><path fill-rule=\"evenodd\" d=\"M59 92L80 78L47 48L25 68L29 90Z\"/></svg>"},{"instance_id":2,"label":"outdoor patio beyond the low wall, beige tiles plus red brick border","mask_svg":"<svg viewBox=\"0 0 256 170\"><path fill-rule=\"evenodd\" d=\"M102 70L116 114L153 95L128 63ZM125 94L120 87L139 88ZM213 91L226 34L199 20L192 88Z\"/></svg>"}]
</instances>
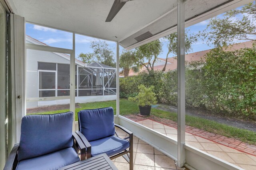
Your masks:
<instances>
[{"instance_id":1,"label":"outdoor patio beyond the low wall, beige tiles plus red brick border","mask_svg":"<svg viewBox=\"0 0 256 170\"><path fill-rule=\"evenodd\" d=\"M153 115L150 115L150 117L126 115L126 117L177 141L177 123L174 121L158 118ZM222 138L224 139L222 141L216 140ZM224 143L223 141L230 141L230 143ZM251 153L246 152L247 149L239 150L237 146L244 144L241 141L238 145L233 145L232 143L238 143L238 140L186 126L186 143L245 170L256 169L255 150L252 149L253 152ZM246 144L246 146L250 145Z\"/></svg>"}]
</instances>

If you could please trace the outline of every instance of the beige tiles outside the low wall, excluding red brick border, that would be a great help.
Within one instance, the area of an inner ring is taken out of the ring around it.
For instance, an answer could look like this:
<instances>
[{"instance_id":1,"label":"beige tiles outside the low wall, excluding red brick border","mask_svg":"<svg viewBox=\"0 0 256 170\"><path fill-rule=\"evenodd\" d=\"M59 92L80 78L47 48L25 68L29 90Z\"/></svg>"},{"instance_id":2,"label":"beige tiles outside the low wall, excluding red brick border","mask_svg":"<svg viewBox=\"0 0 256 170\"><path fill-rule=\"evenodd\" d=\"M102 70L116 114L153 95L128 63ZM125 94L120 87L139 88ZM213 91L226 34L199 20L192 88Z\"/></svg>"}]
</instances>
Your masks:
<instances>
[{"instance_id":1,"label":"beige tiles outside the low wall, excluding red brick border","mask_svg":"<svg viewBox=\"0 0 256 170\"><path fill-rule=\"evenodd\" d=\"M150 119L137 121L137 123L140 123L146 127L154 129L155 131L163 133L164 135L167 135L168 137L171 137L172 139L177 141L177 130L174 127L170 127L168 125L164 125ZM196 135L192 135L187 132L186 143L191 145L192 147L196 147L204 152L217 156L222 160L226 160L227 162L244 168L245 170L256 170L256 156L240 152L236 149L232 149L230 147L221 145L208 139L204 139L202 137L198 137ZM155 158L155 161L156 160L157 158Z\"/></svg>"}]
</instances>

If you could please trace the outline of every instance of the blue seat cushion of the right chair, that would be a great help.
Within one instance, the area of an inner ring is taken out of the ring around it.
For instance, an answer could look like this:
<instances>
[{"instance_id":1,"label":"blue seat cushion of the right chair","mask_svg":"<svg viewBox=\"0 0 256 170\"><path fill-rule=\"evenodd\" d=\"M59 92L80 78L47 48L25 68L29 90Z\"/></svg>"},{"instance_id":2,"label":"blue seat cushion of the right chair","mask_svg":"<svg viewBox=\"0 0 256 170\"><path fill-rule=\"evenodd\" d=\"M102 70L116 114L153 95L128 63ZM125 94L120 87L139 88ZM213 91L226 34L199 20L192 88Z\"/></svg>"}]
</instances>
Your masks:
<instances>
[{"instance_id":1,"label":"blue seat cushion of the right chair","mask_svg":"<svg viewBox=\"0 0 256 170\"><path fill-rule=\"evenodd\" d=\"M102 153L112 156L130 147L129 141L114 135L96 141L90 141L90 144L92 146L92 156Z\"/></svg>"}]
</instances>

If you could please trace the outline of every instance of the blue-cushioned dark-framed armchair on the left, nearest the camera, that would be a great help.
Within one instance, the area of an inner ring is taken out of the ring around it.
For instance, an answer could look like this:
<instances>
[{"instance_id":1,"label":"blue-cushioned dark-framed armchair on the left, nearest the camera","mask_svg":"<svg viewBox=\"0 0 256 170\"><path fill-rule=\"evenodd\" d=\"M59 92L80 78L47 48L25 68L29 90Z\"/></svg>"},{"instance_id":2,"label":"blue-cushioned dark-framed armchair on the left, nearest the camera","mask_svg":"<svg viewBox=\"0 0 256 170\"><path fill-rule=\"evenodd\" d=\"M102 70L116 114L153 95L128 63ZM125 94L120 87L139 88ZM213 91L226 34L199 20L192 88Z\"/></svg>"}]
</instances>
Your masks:
<instances>
[{"instance_id":1,"label":"blue-cushioned dark-framed armchair on the left, nearest the camera","mask_svg":"<svg viewBox=\"0 0 256 170\"><path fill-rule=\"evenodd\" d=\"M73 112L26 115L20 143L14 145L4 170L56 170L86 158L86 148L72 133Z\"/></svg>"}]
</instances>

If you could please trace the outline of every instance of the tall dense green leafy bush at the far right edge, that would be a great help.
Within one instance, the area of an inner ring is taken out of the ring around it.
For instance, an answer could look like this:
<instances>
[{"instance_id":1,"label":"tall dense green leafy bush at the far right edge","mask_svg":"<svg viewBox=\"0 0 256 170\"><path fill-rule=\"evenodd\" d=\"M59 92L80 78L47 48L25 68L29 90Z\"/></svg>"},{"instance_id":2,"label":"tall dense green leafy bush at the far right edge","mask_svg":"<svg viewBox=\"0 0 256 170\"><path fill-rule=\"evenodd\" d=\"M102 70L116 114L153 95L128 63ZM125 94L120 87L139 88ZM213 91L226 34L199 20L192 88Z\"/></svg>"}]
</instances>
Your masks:
<instances>
[{"instance_id":1,"label":"tall dense green leafy bush at the far right edge","mask_svg":"<svg viewBox=\"0 0 256 170\"><path fill-rule=\"evenodd\" d=\"M256 47L239 51L217 48L208 53L204 72L206 106L256 115Z\"/></svg>"}]
</instances>

